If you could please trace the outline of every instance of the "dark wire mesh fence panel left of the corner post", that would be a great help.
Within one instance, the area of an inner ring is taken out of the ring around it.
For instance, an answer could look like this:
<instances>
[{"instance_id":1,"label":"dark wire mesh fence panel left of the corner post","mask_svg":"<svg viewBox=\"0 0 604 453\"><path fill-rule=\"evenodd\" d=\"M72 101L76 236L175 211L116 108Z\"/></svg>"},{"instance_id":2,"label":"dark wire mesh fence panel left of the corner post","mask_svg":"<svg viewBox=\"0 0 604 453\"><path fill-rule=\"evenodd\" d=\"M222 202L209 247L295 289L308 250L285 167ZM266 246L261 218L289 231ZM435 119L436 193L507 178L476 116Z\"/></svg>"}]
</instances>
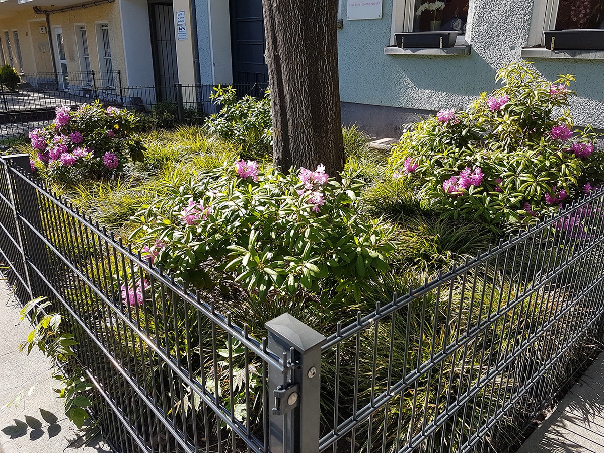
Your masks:
<instances>
[{"instance_id":1,"label":"dark wire mesh fence panel left of the corner post","mask_svg":"<svg viewBox=\"0 0 604 453\"><path fill-rule=\"evenodd\" d=\"M53 301L75 335L116 451L268 451L268 370L285 361L33 181L21 159L0 176L2 259L11 283Z\"/></svg>"}]
</instances>

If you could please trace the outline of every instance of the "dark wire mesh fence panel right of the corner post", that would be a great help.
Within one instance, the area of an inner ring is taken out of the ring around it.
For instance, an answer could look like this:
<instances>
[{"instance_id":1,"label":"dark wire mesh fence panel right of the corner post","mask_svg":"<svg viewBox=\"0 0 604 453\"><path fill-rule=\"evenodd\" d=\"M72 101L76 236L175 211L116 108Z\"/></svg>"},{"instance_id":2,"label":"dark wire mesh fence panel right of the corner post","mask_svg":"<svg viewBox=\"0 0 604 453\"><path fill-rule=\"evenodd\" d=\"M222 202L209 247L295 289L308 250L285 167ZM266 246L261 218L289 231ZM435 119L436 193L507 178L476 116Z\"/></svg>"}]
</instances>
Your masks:
<instances>
[{"instance_id":1,"label":"dark wire mesh fence panel right of the corner post","mask_svg":"<svg viewBox=\"0 0 604 453\"><path fill-rule=\"evenodd\" d=\"M320 451L503 452L602 339L604 194L324 342Z\"/></svg>"}]
</instances>

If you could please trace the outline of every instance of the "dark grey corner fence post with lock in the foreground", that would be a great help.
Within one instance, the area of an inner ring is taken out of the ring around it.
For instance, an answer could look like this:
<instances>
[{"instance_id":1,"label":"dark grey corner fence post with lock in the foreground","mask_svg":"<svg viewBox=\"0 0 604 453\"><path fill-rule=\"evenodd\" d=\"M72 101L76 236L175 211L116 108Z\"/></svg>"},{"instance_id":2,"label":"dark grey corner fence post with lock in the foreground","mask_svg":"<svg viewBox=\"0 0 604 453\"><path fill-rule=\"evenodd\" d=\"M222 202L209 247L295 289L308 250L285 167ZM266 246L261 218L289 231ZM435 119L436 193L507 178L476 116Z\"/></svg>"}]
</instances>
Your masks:
<instances>
[{"instance_id":1,"label":"dark grey corner fence post with lock in the foreground","mask_svg":"<svg viewBox=\"0 0 604 453\"><path fill-rule=\"evenodd\" d=\"M269 401L274 401L269 415L269 451L318 453L321 344L325 337L289 313L265 326L269 350L283 356L287 368L283 372L269 365Z\"/></svg>"}]
</instances>

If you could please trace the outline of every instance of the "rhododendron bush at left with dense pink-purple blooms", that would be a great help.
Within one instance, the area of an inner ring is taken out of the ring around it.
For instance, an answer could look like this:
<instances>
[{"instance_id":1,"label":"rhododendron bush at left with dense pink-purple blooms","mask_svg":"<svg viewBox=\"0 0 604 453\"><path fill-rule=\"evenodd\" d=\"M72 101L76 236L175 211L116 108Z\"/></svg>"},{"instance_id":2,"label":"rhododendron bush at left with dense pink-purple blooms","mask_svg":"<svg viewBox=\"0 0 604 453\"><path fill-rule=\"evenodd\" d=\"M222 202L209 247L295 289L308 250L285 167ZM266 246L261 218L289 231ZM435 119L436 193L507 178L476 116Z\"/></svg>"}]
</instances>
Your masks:
<instances>
[{"instance_id":1,"label":"rhododendron bush at left with dense pink-purple blooms","mask_svg":"<svg viewBox=\"0 0 604 453\"><path fill-rule=\"evenodd\" d=\"M50 126L29 133L37 157L32 170L43 165L49 178L73 181L111 174L130 160L143 160L138 118L132 112L96 101L76 110L63 106L56 114Z\"/></svg>"}]
</instances>

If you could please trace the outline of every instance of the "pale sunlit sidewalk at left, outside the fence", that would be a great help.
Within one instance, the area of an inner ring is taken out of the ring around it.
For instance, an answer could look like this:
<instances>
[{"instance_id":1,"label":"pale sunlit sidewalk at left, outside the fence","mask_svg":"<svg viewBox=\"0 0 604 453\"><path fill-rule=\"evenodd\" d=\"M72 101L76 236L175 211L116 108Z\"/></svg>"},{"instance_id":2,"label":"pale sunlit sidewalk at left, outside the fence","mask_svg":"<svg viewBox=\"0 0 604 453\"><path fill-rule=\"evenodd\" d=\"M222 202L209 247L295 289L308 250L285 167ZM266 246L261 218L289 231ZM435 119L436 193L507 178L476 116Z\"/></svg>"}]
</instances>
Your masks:
<instances>
[{"instance_id":1,"label":"pale sunlit sidewalk at left, outside the fence","mask_svg":"<svg viewBox=\"0 0 604 453\"><path fill-rule=\"evenodd\" d=\"M66 418L53 391L57 381L50 377L50 361L37 349L29 356L18 352L31 332L27 321L19 323L20 309L6 283L0 281L0 407L24 392L18 406L0 410L0 453L111 452L98 436L86 440L85 433Z\"/></svg>"}]
</instances>

